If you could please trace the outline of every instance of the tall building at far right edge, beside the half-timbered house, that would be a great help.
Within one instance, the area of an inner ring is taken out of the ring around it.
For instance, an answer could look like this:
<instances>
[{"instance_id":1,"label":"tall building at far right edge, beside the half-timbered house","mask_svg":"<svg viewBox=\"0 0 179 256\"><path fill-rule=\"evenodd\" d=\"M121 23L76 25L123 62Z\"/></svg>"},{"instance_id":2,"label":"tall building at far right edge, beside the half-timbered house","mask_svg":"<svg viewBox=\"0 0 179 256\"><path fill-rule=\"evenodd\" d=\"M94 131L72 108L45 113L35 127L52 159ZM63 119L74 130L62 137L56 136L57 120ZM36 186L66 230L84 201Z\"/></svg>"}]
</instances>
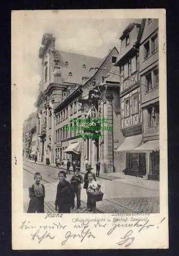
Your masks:
<instances>
[{"instance_id":1,"label":"tall building at far right edge, beside the half-timbered house","mask_svg":"<svg viewBox=\"0 0 179 256\"><path fill-rule=\"evenodd\" d=\"M136 152L145 155L146 178L159 179L159 43L158 19L143 19L139 34L143 143Z\"/></svg>"}]
</instances>

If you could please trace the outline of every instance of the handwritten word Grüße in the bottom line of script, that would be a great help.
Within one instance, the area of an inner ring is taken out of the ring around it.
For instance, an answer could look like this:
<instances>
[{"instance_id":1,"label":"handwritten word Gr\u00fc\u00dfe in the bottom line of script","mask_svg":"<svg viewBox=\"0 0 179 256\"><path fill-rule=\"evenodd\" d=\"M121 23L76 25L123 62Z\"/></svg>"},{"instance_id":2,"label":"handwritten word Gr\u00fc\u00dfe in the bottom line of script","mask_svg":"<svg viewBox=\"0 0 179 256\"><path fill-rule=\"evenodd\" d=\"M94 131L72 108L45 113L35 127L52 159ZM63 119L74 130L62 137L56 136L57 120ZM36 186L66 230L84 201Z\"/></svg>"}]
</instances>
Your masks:
<instances>
[{"instance_id":1,"label":"handwritten word Gr\u00fc\u00dfe in the bottom line of script","mask_svg":"<svg viewBox=\"0 0 179 256\"><path fill-rule=\"evenodd\" d=\"M71 231L66 232L65 234L65 240L61 242L61 245L65 245L67 241L70 240L70 238L80 238L80 242L82 243L85 238L95 238L94 234L90 231L88 226L84 226L83 229L81 230L81 233L76 234L72 233Z\"/></svg>"}]
</instances>

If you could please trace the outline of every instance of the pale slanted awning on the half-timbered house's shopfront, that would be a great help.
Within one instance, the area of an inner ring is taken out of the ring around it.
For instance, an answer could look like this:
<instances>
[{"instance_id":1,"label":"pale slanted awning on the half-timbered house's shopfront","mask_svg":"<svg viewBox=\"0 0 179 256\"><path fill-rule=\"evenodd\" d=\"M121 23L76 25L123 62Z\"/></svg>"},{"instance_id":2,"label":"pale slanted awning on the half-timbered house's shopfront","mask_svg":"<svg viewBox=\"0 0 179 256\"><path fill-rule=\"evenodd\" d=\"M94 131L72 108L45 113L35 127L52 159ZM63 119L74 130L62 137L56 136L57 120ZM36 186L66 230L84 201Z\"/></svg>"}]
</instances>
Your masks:
<instances>
[{"instance_id":1,"label":"pale slanted awning on the half-timbered house's shopfront","mask_svg":"<svg viewBox=\"0 0 179 256\"><path fill-rule=\"evenodd\" d=\"M116 152L130 152L142 143L142 134L125 138Z\"/></svg>"}]
</instances>

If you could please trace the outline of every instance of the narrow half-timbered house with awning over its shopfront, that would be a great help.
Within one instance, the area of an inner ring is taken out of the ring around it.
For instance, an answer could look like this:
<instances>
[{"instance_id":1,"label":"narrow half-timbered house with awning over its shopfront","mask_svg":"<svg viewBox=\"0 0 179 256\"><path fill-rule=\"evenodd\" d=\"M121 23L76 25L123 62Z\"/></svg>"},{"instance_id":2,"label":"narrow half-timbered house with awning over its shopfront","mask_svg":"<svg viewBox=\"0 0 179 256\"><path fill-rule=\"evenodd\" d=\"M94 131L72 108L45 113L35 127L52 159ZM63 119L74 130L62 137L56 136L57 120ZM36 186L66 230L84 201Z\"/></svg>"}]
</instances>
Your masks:
<instances>
[{"instance_id":1,"label":"narrow half-timbered house with awning over its shopfront","mask_svg":"<svg viewBox=\"0 0 179 256\"><path fill-rule=\"evenodd\" d=\"M132 150L142 143L142 109L139 77L139 42L141 23L132 23L123 31L119 59L120 70L120 122L122 144L116 150L120 169L125 174L142 175L145 155ZM140 163L140 164L139 164Z\"/></svg>"}]
</instances>

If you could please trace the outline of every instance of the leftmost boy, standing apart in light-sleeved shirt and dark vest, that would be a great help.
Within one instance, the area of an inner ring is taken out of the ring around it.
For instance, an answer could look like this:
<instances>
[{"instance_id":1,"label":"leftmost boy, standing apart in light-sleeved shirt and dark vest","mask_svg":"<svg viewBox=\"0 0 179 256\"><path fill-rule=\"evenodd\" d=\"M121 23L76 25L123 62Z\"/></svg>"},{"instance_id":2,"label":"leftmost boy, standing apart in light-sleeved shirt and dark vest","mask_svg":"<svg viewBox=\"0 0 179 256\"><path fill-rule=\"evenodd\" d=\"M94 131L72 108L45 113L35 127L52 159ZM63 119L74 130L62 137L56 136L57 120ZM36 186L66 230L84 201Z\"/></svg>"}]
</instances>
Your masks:
<instances>
[{"instance_id":1,"label":"leftmost boy, standing apart in light-sleeved shirt and dark vest","mask_svg":"<svg viewBox=\"0 0 179 256\"><path fill-rule=\"evenodd\" d=\"M40 173L35 173L34 180L35 183L29 187L29 208L27 210L28 214L44 213L44 197L45 189L42 184L40 184L42 177Z\"/></svg>"}]
</instances>

